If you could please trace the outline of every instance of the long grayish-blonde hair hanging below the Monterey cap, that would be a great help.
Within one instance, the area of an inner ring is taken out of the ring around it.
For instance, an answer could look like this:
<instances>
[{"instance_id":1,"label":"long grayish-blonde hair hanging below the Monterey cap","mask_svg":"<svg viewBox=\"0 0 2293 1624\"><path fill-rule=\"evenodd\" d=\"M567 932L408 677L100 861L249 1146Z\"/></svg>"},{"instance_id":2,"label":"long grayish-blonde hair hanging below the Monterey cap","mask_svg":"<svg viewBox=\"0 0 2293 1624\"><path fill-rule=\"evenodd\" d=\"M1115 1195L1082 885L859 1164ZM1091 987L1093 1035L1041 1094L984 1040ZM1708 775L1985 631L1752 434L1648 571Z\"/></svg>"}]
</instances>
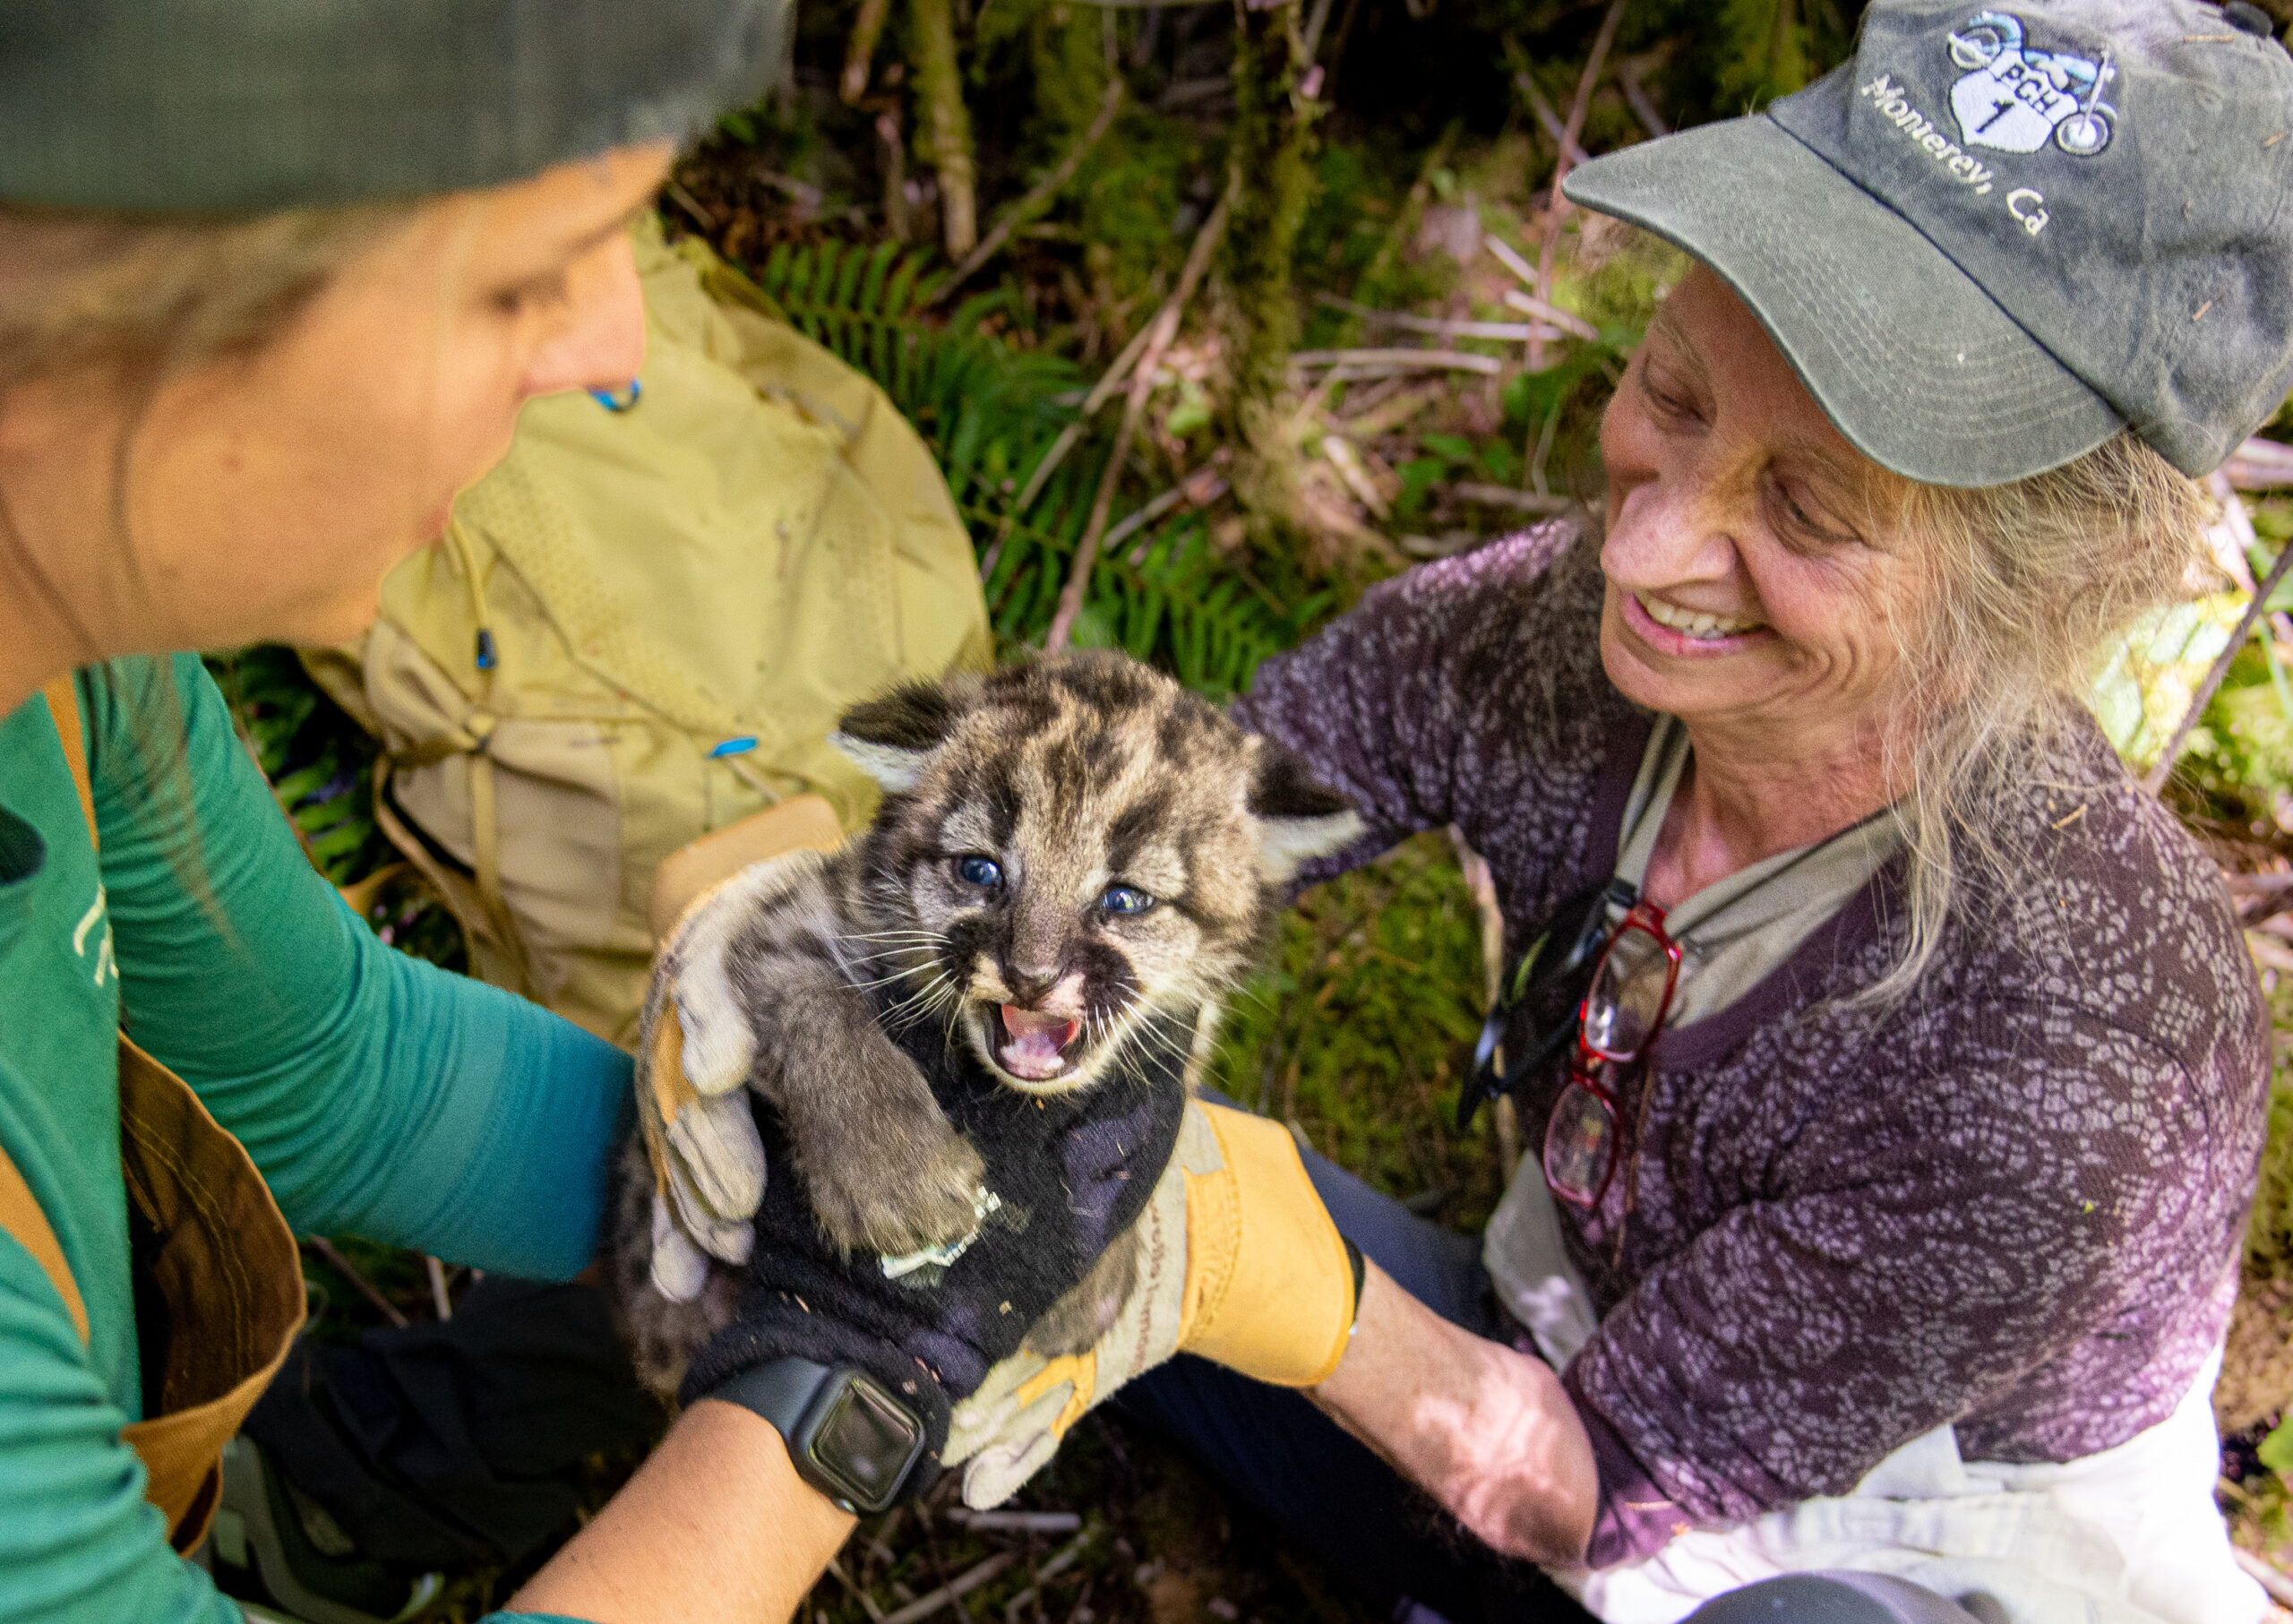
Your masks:
<instances>
[{"instance_id":1,"label":"long grayish-blonde hair hanging below the Monterey cap","mask_svg":"<svg viewBox=\"0 0 2293 1624\"><path fill-rule=\"evenodd\" d=\"M2103 645L2185 596L2213 498L2135 434L1988 489L1896 482L1883 516L1928 560L1896 606L1912 674L1887 729L1885 782L1908 856L1901 959L1857 1002L1889 1005L1926 970L1954 913L2034 895L2029 817Z\"/></svg>"}]
</instances>

